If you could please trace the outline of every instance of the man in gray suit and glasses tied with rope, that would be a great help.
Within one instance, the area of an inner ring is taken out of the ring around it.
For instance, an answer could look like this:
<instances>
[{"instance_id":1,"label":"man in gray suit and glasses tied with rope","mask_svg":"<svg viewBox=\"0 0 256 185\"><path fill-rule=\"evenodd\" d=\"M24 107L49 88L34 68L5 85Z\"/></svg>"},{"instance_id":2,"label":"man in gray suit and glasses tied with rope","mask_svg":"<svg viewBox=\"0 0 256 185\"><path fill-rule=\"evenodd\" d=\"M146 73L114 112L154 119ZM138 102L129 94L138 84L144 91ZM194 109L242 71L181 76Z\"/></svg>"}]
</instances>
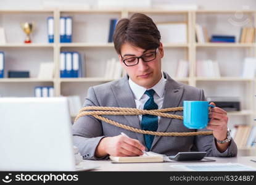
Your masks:
<instances>
[{"instance_id":1,"label":"man in gray suit and glasses tied with rope","mask_svg":"<svg viewBox=\"0 0 256 185\"><path fill-rule=\"evenodd\" d=\"M114 45L127 75L121 80L88 89L84 106L131 107L162 109L182 107L183 101L205 101L204 91L171 79L161 70L163 44L151 18L134 14L121 19L114 33ZM213 103L211 103L213 104ZM173 112L183 115L183 112ZM183 120L159 118L152 115L104 115L110 120L142 130L161 132L191 132ZM205 151L207 156L233 157L237 147L228 137L228 117L218 107L209 113L209 136L160 137L134 133L97 120L81 117L73 125L75 146L86 159L106 159L113 156L138 156L143 150L166 155L177 152ZM206 128L204 129L206 130ZM120 133L125 133L123 136Z\"/></svg>"}]
</instances>

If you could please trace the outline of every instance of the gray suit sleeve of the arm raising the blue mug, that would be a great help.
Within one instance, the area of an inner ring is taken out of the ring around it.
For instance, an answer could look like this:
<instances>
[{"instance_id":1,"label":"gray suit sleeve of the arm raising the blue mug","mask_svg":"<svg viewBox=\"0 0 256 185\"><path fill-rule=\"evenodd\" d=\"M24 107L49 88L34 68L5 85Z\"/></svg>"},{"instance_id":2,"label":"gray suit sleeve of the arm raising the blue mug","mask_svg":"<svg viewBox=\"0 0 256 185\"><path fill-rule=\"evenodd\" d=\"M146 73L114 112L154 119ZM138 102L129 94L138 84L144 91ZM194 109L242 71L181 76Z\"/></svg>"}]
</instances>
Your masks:
<instances>
[{"instance_id":1,"label":"gray suit sleeve of the arm raising the blue mug","mask_svg":"<svg viewBox=\"0 0 256 185\"><path fill-rule=\"evenodd\" d=\"M202 89L200 90L200 101L205 101L204 91ZM207 131L207 129L205 128L197 131ZM217 149L215 138L213 137L213 135L195 136L193 147L194 150L207 152L207 156L211 157L235 157L237 155L237 147L234 139L231 139L228 149L226 149L225 152L221 153Z\"/></svg>"}]
</instances>

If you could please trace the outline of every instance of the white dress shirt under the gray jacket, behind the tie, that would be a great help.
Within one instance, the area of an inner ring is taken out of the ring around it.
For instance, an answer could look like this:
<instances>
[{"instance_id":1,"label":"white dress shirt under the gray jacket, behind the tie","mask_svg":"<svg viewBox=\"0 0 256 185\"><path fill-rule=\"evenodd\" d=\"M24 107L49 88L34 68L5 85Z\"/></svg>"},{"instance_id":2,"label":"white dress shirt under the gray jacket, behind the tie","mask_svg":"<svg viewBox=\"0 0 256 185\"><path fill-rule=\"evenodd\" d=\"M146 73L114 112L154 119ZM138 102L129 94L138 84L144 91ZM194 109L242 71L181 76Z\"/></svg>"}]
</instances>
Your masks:
<instances>
[{"instance_id":1,"label":"white dress shirt under the gray jacket, behind the tie","mask_svg":"<svg viewBox=\"0 0 256 185\"><path fill-rule=\"evenodd\" d=\"M165 91L165 83L166 83L166 79L163 77L163 72L162 72L162 78L159 80L157 84L155 84L152 88L150 88L150 89L154 89L155 91L154 102L158 105L158 109L162 109L163 107L163 93ZM147 94L144 94L144 93L149 89L146 89L134 83L131 80L131 78L129 78L129 84L130 84L131 91L133 91L133 94L135 97L134 101L136 104L136 108L143 109L144 104L149 99L149 96L147 96ZM141 121L141 119L142 119L142 115L139 115L139 121ZM160 120L160 117L158 117L158 121L159 120Z\"/></svg>"}]
</instances>

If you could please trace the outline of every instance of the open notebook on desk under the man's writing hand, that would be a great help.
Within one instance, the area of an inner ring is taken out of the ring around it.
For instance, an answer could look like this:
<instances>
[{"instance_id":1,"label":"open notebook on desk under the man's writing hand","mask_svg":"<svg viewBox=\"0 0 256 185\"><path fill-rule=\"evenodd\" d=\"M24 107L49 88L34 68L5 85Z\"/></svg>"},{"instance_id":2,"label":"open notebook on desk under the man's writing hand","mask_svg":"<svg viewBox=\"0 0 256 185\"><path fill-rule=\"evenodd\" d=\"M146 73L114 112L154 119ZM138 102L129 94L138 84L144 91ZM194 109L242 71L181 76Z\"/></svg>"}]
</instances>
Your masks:
<instances>
[{"instance_id":1,"label":"open notebook on desk under the man's writing hand","mask_svg":"<svg viewBox=\"0 0 256 185\"><path fill-rule=\"evenodd\" d=\"M149 162L163 162L164 156L154 152L146 152L147 155L143 154L136 157L114 157L110 156L110 160L115 163L149 163Z\"/></svg>"}]
</instances>

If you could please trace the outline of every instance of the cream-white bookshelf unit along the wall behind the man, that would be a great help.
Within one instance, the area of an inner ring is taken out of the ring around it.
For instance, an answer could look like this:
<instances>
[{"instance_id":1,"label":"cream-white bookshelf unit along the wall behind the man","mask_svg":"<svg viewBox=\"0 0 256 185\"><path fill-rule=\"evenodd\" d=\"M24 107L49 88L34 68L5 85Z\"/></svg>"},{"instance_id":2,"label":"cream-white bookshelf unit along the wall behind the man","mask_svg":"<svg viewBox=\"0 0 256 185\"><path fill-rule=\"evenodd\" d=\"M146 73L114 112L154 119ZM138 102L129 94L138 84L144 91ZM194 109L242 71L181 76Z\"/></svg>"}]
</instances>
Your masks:
<instances>
[{"instance_id":1,"label":"cream-white bookshelf unit along the wall behind the man","mask_svg":"<svg viewBox=\"0 0 256 185\"><path fill-rule=\"evenodd\" d=\"M107 43L109 20L130 17L134 12L149 15L154 22L183 22L187 25L187 43L163 43L165 57L162 68L175 80L181 83L205 89L206 96L239 96L241 111L229 112L229 126L239 123L255 125L255 85L256 78L241 78L239 70L244 57L256 57L255 43L197 43L196 23L205 25L212 35L218 33L234 34L237 30L227 21L235 10L157 10L157 9L27 9L1 10L0 25L6 30L6 44L0 44L0 51L6 54L6 70L30 70L28 79L0 79L0 95L33 96L35 86L54 86L55 96L80 96L84 101L86 91L90 86L107 83L113 79L104 78L107 59L117 58L113 43ZM256 10L243 10L242 13L255 27ZM73 18L73 43L59 43L60 16ZM54 17L54 43L47 40L47 17ZM25 34L20 28L20 22L35 21L36 31L32 33L33 43L23 44ZM223 30L222 27L225 27ZM212 32L211 32L212 31ZM222 31L222 32L221 32ZM94 36L97 35L97 36ZM86 76L83 78L59 78L59 54L62 51L78 51L85 56ZM220 55L228 55L221 58ZM230 58L229 58L230 57ZM220 78L197 77L196 61L199 59L220 59ZM178 59L189 61L189 76L175 78ZM41 80L36 78L41 62L54 63L54 78ZM234 70L231 67L237 66ZM5 76L6 73L5 73ZM215 88L213 88L215 87ZM19 91L17 91L19 89ZM222 93L223 92L223 93ZM234 124L233 124L234 123ZM241 151L240 151L241 150ZM239 149L242 155L255 154L254 147Z\"/></svg>"}]
</instances>

